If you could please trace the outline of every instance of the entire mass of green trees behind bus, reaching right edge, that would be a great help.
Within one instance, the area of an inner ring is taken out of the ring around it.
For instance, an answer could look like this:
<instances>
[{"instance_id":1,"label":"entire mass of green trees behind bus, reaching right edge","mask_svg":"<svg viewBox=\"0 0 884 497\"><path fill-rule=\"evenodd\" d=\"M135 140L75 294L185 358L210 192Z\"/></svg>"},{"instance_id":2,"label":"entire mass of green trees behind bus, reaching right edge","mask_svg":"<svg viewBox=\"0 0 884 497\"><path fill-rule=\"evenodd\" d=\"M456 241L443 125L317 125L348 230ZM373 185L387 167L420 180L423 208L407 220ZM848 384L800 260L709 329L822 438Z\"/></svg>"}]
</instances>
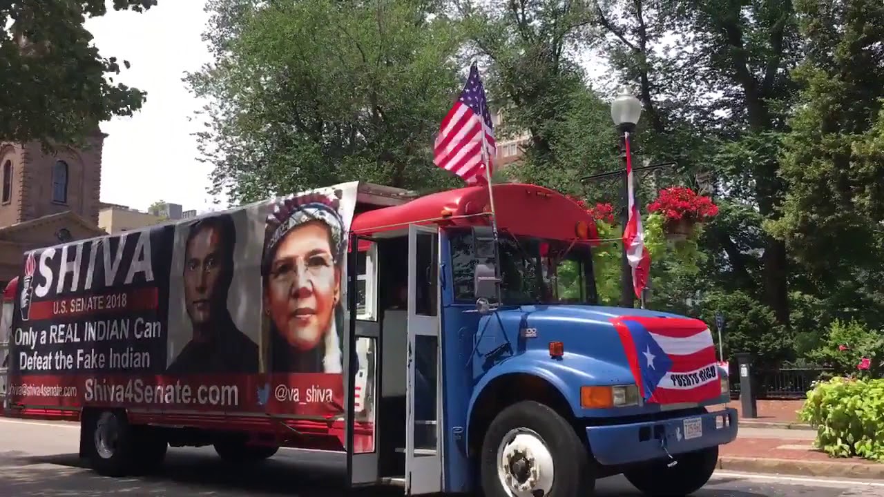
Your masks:
<instances>
[{"instance_id":1,"label":"entire mass of green trees behind bus, reaching right edge","mask_svg":"<svg viewBox=\"0 0 884 497\"><path fill-rule=\"evenodd\" d=\"M210 0L215 62L201 140L238 201L339 180L459 182L431 164L438 123L477 60L498 172L623 204L608 102L627 85L646 211L659 189L705 187L719 214L687 242L645 212L647 304L728 320L726 353L812 356L834 323L884 325L884 6L875 0ZM583 63L604 61L590 78ZM711 180L701 181L701 177ZM701 185L701 183L704 183ZM616 211L616 210L615 210ZM621 228L599 224L598 291L620 291ZM612 300L613 299L613 300Z\"/></svg>"}]
</instances>

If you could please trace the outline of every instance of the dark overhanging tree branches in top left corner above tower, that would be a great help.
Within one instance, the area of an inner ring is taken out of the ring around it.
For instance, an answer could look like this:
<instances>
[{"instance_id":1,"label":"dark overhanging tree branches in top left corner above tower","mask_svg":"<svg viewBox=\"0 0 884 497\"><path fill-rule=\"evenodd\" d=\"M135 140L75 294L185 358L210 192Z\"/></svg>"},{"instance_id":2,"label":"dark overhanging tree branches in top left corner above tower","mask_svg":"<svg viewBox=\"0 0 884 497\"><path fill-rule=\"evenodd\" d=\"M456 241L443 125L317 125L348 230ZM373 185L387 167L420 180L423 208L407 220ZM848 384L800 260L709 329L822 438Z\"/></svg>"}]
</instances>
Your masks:
<instances>
[{"instance_id":1,"label":"dark overhanging tree branches in top left corner above tower","mask_svg":"<svg viewBox=\"0 0 884 497\"><path fill-rule=\"evenodd\" d=\"M114 0L114 10L146 11L156 0ZM83 27L107 13L105 0L0 2L0 141L80 144L98 123L131 116L146 93L114 83L116 57L104 58Z\"/></svg>"}]
</instances>

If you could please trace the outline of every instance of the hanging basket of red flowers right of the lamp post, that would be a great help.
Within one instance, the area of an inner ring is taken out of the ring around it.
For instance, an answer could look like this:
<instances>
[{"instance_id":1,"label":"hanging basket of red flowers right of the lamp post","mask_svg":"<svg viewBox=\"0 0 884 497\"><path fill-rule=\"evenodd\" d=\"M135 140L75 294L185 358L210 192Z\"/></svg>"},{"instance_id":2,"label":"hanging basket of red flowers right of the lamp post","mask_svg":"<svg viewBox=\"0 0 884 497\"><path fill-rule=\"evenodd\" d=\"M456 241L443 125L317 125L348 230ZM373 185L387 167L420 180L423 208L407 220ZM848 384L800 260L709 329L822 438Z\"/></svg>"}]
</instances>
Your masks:
<instances>
[{"instance_id":1,"label":"hanging basket of red flowers right of the lamp post","mask_svg":"<svg viewBox=\"0 0 884 497\"><path fill-rule=\"evenodd\" d=\"M694 233L697 223L718 215L718 206L689 187L668 187L660 190L657 199L648 205L648 211L666 219L667 240L682 241Z\"/></svg>"}]
</instances>

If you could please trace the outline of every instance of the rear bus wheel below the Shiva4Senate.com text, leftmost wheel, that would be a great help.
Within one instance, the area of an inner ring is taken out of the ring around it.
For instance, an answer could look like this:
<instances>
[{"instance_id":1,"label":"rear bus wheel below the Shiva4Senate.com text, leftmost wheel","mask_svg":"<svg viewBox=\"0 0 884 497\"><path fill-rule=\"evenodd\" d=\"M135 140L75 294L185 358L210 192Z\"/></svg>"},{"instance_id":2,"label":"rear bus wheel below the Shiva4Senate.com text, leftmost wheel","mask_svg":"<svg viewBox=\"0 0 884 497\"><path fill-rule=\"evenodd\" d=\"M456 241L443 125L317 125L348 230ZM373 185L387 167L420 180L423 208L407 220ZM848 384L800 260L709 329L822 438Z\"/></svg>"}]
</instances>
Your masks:
<instances>
[{"instance_id":1,"label":"rear bus wheel below the Shiva4Senate.com text, leftmost wheel","mask_svg":"<svg viewBox=\"0 0 884 497\"><path fill-rule=\"evenodd\" d=\"M133 468L135 438L122 411L103 410L88 423L92 469L106 477L124 477Z\"/></svg>"}]
</instances>

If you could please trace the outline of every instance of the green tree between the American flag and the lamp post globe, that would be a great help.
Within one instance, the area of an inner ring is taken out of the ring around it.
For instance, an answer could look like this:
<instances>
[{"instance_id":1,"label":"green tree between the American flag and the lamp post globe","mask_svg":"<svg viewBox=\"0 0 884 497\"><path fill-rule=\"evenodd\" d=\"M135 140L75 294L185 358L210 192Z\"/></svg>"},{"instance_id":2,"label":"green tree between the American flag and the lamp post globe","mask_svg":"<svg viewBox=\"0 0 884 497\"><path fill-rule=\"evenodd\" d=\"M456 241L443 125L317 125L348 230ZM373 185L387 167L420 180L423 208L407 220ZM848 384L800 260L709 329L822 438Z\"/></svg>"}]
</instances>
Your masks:
<instances>
[{"instance_id":1,"label":"green tree between the American flag and the lamp post globe","mask_svg":"<svg viewBox=\"0 0 884 497\"><path fill-rule=\"evenodd\" d=\"M554 0L452 4L464 22L469 49L488 62L488 88L504 111L499 137L530 134L525 159L507 173L583 195L580 177L618 164L606 103L587 87L576 60L595 36L588 5ZM610 200L603 188L593 192L596 200Z\"/></svg>"}]
</instances>

